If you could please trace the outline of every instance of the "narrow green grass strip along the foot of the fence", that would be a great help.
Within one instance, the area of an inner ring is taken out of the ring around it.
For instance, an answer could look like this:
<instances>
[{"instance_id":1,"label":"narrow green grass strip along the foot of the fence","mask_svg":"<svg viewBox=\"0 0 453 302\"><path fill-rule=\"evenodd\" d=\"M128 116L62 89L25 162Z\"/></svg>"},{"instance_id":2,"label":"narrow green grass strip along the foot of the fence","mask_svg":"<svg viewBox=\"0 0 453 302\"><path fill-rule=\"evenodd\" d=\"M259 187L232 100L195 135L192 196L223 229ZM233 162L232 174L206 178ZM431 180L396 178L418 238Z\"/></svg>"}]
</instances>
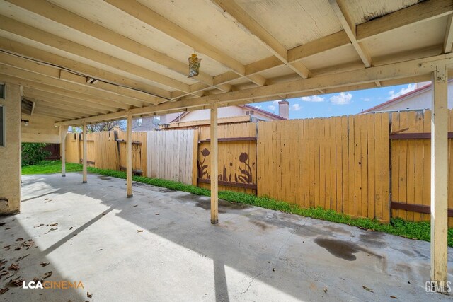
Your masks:
<instances>
[{"instance_id":1,"label":"narrow green grass strip along the foot of the fence","mask_svg":"<svg viewBox=\"0 0 453 302\"><path fill-rule=\"evenodd\" d=\"M50 172L52 170L52 167L54 168L54 170L53 172ZM70 170L68 170L69 167L72 167L74 171L81 170L81 165L78 164L67 163L67 171L71 172ZM27 169L27 173L23 174L59 173L61 172L61 162L52 161L51 163L49 163L48 161L45 161L40 163L39 165L24 167L23 170L25 169ZM88 171L91 173L111 176L114 178L126 179L126 173L122 171L105 170L91 167L88 167ZM148 185L154 185L156 187L165 187L171 190L189 192L192 194L202 196L210 196L210 190L203 189L201 187L195 187L193 185L185 185L181 182L161 180L159 178L146 178L143 176L133 176L132 180L136 182L142 182ZM302 208L297 206L296 204L289 204L287 202L282 202L269 197L257 197L255 195L241 192L220 191L219 198L229 202L250 204L252 206L262 207L265 209L273 209L275 211L297 214L300 216L311 217L314 219L321 219L336 223L344 223L350 226L357 226L358 228L365 228L367 230L389 233L396 236L430 241L431 231L430 222L428 221L412 222L403 221L403 219L391 219L390 223L381 223L376 219L369 218L352 219L351 216L338 213L331 209L322 209L321 207ZM448 245L453 247L453 228L448 229Z\"/></svg>"}]
</instances>

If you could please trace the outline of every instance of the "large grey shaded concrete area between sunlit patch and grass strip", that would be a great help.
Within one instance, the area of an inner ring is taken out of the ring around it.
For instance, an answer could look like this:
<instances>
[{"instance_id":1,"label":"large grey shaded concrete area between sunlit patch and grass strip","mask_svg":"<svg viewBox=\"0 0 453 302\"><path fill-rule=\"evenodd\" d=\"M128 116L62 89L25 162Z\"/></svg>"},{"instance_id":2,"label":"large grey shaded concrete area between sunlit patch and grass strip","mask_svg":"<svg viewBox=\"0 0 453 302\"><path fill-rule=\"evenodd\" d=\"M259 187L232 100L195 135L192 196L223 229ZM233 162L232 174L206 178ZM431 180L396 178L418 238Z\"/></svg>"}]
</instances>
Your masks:
<instances>
[{"instance_id":1,"label":"large grey shaded concrete area between sunlit patch and grass strip","mask_svg":"<svg viewBox=\"0 0 453 302\"><path fill-rule=\"evenodd\" d=\"M338 300L368 300L370 293L362 289L361 283L367 279L376 281L377 277L383 278L383 291L386 286L393 286L391 288L397 293L396 296L401 292L413 292L414 289L420 294L423 289L418 285L429 278L429 260L417 259L420 264L413 264L411 267L412 260L404 252L391 255L395 258L392 261L401 262L401 265L408 268L401 273L398 281L395 281L396 277L390 277L398 272L388 265L388 251L379 248L380 243L389 243L387 235L385 238L378 238L375 233L311 219L308 219L310 223L306 223L307 219L301 216L225 201L219 202L220 223L213 226L210 224L208 197L134 184L134 197L127 199L125 180L88 175L88 184L81 185L80 175L68 173L67 176L57 179L51 175L40 175L40 181L47 187L57 189L55 194L64 187L64 192L77 194L80 198L87 196L98 199L108 207L106 213L115 209L116 216L137 227L212 259L216 301L229 301L231 298L226 266L248 276L239 296L247 294L253 281L259 280L277 291L302 300L326 296L326 289L331 293L338 293L333 297ZM42 196L44 195L47 194ZM102 216L103 214L99 214L42 250L40 257L55 252ZM370 239L370 236L373 238ZM316 238L333 238L346 244L353 241L352 244L357 246L358 251L354 251L353 257L336 257L322 245L316 244ZM370 246L370 240L374 240L376 246ZM392 244L398 245L400 250L417 249L414 247L415 241L403 238L392 240L396 240ZM402 248L399 241L407 246ZM426 251L427 244L429 247L429 243L420 243L423 255L429 255L429 248ZM389 245L384 248L389 248ZM451 257L449 261L452 261ZM351 287L353 281L357 289ZM374 290L376 291L377 289ZM387 292L386 296L389 297Z\"/></svg>"}]
</instances>

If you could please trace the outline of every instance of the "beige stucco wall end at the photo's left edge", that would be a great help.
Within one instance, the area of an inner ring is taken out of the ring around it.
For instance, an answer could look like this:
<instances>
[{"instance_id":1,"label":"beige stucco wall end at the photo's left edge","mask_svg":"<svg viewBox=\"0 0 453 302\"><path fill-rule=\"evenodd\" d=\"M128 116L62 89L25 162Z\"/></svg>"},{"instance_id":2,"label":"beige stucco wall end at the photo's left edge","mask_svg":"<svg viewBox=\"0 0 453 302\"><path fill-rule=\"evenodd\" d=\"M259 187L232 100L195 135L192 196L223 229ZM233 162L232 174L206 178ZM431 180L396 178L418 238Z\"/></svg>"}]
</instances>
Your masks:
<instances>
[{"instance_id":1,"label":"beige stucco wall end at the photo's left edge","mask_svg":"<svg viewBox=\"0 0 453 302\"><path fill-rule=\"evenodd\" d=\"M0 146L0 215L15 214L21 206L21 93L6 84L6 146ZM5 200L6 199L6 200Z\"/></svg>"}]
</instances>

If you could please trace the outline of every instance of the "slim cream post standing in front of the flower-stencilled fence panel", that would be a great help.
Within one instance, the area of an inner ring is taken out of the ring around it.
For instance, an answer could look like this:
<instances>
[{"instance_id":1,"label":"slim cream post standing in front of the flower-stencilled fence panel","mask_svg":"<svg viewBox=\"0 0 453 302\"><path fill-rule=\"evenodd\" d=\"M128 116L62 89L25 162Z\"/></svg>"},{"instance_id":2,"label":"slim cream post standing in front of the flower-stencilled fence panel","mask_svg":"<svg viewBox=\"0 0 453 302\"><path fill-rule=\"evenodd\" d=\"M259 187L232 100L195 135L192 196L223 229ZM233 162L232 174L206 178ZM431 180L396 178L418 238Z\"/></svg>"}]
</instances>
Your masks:
<instances>
[{"instance_id":1,"label":"slim cream post standing in front of the flower-stencilled fence panel","mask_svg":"<svg viewBox=\"0 0 453 302\"><path fill-rule=\"evenodd\" d=\"M217 142L217 108L219 105L211 105L211 223L219 223L219 151Z\"/></svg>"}]
</instances>

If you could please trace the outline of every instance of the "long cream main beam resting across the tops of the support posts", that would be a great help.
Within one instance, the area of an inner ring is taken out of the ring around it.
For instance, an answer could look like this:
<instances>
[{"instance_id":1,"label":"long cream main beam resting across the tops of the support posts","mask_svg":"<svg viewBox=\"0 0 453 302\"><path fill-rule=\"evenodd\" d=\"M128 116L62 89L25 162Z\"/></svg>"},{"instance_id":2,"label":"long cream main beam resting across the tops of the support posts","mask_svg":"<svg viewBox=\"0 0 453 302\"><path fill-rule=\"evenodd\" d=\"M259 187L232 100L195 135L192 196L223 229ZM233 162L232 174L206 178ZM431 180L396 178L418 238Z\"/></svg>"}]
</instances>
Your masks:
<instances>
[{"instance_id":1,"label":"long cream main beam resting across the tops of the support posts","mask_svg":"<svg viewBox=\"0 0 453 302\"><path fill-rule=\"evenodd\" d=\"M453 67L453 54L442 54L440 56L387 64L384 66L372 66L355 71L345 71L338 74L315 76L309 79L299 79L297 81L248 88L241 91L208 95L202 98L178 100L160 105L109 113L97 117L59 122L56 123L56 125L79 124L82 121L97 122L101 120L115 120L122 118L125 115L144 115L180 109L192 110L192 108L200 108L200 106L210 105L211 103L225 104L234 101L240 104L258 100L262 101L264 99L272 100L275 98L275 95L292 95L292 97L294 97L297 95L304 95L305 93L317 94L316 92L314 93L314 91L319 90L332 91L335 88L340 88L342 91L348 89L348 87L354 87L354 89L360 89L361 87L369 88L370 83L374 85L375 81L382 82L401 79L401 83L403 83L405 81L411 81L414 76L429 76L436 64L446 64L447 66L450 66L450 68Z\"/></svg>"}]
</instances>

